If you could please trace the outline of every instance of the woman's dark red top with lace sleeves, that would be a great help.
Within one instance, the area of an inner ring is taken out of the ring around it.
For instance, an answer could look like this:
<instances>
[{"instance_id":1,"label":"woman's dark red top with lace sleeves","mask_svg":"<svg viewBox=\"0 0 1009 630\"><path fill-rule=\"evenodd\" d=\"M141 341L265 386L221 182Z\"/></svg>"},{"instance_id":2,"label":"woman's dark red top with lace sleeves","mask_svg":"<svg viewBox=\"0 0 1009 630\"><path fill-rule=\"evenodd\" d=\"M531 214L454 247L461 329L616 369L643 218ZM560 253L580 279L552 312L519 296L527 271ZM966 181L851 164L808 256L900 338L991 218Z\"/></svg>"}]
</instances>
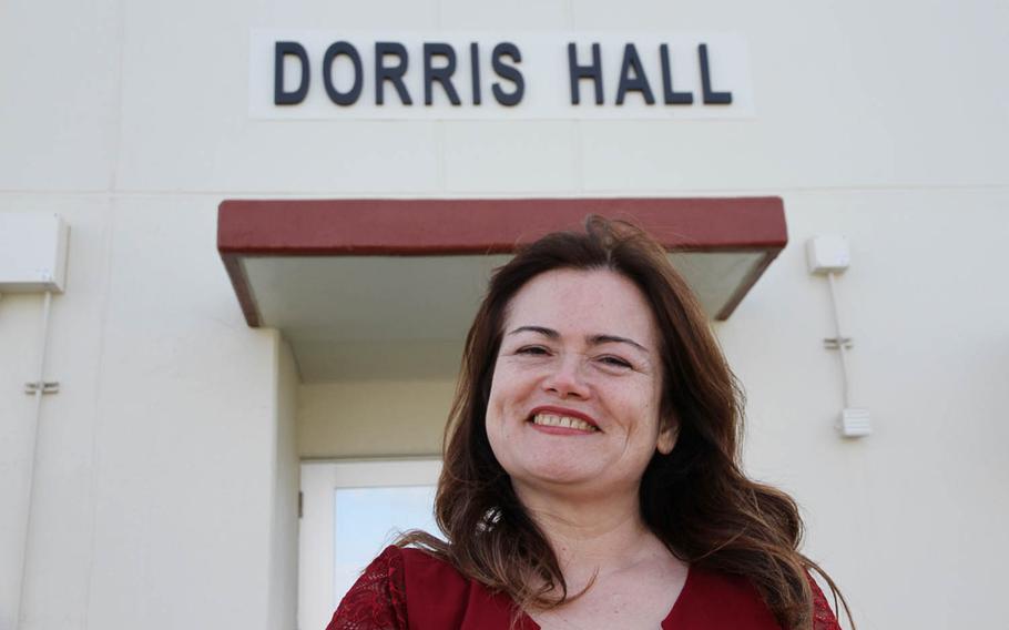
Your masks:
<instances>
[{"instance_id":1,"label":"woman's dark red top with lace sleeves","mask_svg":"<svg viewBox=\"0 0 1009 630\"><path fill-rule=\"evenodd\" d=\"M814 630L840 630L813 585ZM326 630L508 630L511 599L419 549L387 547L347 591ZM514 630L539 630L520 614ZM744 578L691 567L664 630L781 630Z\"/></svg>"}]
</instances>

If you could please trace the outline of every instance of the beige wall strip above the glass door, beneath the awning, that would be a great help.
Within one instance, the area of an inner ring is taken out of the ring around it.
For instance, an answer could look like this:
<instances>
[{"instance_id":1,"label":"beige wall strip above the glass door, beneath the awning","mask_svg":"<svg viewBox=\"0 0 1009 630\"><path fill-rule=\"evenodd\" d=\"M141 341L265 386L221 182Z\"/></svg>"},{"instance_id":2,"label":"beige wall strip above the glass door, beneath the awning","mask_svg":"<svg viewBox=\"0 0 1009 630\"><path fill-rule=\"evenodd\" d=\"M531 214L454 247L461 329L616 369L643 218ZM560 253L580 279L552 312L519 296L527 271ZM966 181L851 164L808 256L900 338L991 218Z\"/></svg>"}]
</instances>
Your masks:
<instances>
[{"instance_id":1,"label":"beige wall strip above the glass door, beneath the awning","mask_svg":"<svg viewBox=\"0 0 1009 630\"><path fill-rule=\"evenodd\" d=\"M303 385L298 451L305 458L440 455L455 379Z\"/></svg>"}]
</instances>

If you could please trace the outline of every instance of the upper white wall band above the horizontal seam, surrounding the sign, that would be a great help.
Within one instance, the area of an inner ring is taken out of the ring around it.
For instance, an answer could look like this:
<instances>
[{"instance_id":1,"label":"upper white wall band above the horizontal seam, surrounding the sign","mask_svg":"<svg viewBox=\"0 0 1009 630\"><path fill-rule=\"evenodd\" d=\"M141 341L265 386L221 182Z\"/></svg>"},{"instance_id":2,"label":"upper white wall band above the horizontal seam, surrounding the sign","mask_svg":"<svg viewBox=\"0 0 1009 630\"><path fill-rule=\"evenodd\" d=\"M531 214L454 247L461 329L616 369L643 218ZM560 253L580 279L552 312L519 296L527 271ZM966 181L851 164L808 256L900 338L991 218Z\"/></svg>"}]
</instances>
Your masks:
<instances>
[{"instance_id":1,"label":"upper white wall band above the horizontal seam, surrounding the sign","mask_svg":"<svg viewBox=\"0 0 1009 630\"><path fill-rule=\"evenodd\" d=\"M18 89L0 102L2 190L644 195L1006 181L1009 8L988 0L8 7L0 72ZM736 32L750 42L757 116L254 121L252 27Z\"/></svg>"}]
</instances>

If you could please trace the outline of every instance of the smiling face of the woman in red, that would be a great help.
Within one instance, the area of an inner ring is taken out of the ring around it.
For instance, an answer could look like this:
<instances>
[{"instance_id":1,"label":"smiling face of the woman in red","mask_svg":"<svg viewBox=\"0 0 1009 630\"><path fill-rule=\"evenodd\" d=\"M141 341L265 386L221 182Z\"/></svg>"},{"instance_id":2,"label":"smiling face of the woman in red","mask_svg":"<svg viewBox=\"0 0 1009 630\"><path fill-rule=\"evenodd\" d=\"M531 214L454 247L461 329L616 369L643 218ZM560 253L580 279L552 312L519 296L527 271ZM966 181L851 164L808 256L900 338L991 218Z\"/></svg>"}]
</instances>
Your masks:
<instances>
[{"instance_id":1,"label":"smiling face of the woman in red","mask_svg":"<svg viewBox=\"0 0 1009 630\"><path fill-rule=\"evenodd\" d=\"M654 317L622 275L557 270L511 299L487 436L520 494L636 494L655 449L675 441L661 398Z\"/></svg>"}]
</instances>

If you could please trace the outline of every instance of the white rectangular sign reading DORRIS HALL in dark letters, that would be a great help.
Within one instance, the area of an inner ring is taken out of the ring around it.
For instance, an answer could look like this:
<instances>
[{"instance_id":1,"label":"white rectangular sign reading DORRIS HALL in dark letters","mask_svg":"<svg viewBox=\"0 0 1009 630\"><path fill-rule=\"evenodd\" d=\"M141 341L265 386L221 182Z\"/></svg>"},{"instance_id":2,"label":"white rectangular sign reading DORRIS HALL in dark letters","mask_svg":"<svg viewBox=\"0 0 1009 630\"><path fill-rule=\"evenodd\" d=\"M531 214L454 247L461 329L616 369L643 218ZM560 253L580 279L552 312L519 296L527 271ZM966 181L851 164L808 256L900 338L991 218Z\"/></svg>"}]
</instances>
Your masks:
<instances>
[{"instance_id":1,"label":"white rectangular sign reading DORRIS HALL in dark letters","mask_svg":"<svg viewBox=\"0 0 1009 630\"><path fill-rule=\"evenodd\" d=\"M740 119L735 34L253 30L255 119Z\"/></svg>"}]
</instances>

